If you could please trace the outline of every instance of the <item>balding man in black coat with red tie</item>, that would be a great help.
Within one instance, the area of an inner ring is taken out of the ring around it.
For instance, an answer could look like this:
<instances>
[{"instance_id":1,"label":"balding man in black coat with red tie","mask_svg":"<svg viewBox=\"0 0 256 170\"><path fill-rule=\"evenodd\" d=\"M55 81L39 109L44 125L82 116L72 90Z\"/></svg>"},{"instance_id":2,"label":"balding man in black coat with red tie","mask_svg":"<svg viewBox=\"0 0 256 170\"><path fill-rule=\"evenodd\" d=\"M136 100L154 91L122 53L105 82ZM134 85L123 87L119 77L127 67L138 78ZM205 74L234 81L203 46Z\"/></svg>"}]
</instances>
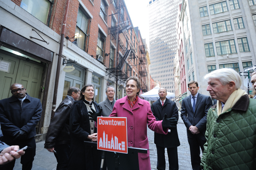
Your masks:
<instances>
[{"instance_id":1,"label":"balding man in black coat with red tie","mask_svg":"<svg viewBox=\"0 0 256 170\"><path fill-rule=\"evenodd\" d=\"M177 133L177 120L179 119L178 109L175 102L166 98L166 88L158 90L159 100L153 103L152 112L157 121L163 120L165 114L167 118L173 121L173 127L169 129L167 135L154 133L154 143L157 147L157 170L166 169L165 148L167 148L169 159L169 170L178 170L178 154L177 147L180 146L180 141Z\"/></svg>"}]
</instances>

